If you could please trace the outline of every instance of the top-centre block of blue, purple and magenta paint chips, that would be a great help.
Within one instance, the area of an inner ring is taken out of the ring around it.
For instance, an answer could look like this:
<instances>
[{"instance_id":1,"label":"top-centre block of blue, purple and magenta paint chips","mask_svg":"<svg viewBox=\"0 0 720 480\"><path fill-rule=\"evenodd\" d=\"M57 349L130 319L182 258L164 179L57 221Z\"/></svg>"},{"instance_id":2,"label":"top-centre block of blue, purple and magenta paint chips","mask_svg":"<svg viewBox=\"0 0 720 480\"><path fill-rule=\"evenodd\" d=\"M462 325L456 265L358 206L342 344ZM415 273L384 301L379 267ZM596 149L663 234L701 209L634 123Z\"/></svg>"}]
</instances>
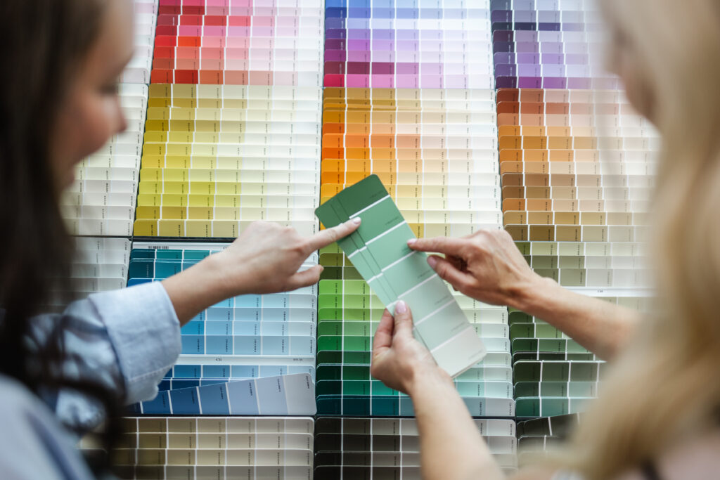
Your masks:
<instances>
[{"instance_id":1,"label":"top-centre block of blue, purple and magenta paint chips","mask_svg":"<svg viewBox=\"0 0 720 480\"><path fill-rule=\"evenodd\" d=\"M328 0L325 86L492 89L488 0Z\"/></svg>"}]
</instances>

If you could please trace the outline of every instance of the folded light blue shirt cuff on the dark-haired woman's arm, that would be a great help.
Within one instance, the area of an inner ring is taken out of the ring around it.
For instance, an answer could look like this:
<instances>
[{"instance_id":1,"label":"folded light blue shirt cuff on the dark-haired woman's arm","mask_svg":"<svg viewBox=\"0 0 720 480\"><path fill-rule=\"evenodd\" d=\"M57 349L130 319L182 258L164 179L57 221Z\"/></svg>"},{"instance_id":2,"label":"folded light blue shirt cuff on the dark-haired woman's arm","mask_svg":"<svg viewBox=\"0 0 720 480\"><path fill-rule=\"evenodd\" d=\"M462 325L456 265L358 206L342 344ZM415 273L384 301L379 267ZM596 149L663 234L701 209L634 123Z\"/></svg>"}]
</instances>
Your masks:
<instances>
[{"instance_id":1,"label":"folded light blue shirt cuff on the dark-haired woman's arm","mask_svg":"<svg viewBox=\"0 0 720 480\"><path fill-rule=\"evenodd\" d=\"M159 281L89 296L125 378L125 402L153 399L181 351L180 322Z\"/></svg>"}]
</instances>

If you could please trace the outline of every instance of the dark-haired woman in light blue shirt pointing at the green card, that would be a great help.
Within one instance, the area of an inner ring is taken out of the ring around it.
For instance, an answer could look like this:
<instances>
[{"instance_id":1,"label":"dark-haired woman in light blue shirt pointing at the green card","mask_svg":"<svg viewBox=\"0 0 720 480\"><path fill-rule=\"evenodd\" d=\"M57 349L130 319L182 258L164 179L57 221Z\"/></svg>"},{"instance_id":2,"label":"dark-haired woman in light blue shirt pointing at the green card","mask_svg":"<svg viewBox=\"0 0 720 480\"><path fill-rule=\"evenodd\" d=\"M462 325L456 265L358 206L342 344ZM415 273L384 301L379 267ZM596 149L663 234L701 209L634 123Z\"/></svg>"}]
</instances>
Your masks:
<instances>
[{"instance_id":1,"label":"dark-haired woman in light blue shirt pointing at the green card","mask_svg":"<svg viewBox=\"0 0 720 480\"><path fill-rule=\"evenodd\" d=\"M132 1L4 1L0 45L0 471L88 479L61 423L81 432L107 417L109 450L122 404L154 397L174 364L181 325L230 296L315 284L322 267L299 272L302 261L358 224L305 238L256 222L165 281L41 314L71 290L60 193L76 163L125 129L116 82L132 56Z\"/></svg>"}]
</instances>

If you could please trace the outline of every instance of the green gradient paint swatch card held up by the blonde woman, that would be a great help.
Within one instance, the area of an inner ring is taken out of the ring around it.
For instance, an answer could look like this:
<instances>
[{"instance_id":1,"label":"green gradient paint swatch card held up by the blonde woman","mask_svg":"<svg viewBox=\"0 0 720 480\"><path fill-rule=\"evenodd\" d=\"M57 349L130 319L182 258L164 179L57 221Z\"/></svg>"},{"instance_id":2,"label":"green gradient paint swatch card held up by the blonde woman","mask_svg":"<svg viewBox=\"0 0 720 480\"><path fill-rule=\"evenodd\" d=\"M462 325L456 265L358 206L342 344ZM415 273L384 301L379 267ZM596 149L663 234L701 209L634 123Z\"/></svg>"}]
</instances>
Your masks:
<instances>
[{"instance_id":1,"label":"green gradient paint swatch card held up by the blonde woman","mask_svg":"<svg viewBox=\"0 0 720 480\"><path fill-rule=\"evenodd\" d=\"M408 248L413 231L377 175L371 175L315 210L325 227L360 217L358 230L338 241L380 301L395 312L403 300L413 312L414 334L439 366L457 376L485 357L477 336L427 255Z\"/></svg>"}]
</instances>

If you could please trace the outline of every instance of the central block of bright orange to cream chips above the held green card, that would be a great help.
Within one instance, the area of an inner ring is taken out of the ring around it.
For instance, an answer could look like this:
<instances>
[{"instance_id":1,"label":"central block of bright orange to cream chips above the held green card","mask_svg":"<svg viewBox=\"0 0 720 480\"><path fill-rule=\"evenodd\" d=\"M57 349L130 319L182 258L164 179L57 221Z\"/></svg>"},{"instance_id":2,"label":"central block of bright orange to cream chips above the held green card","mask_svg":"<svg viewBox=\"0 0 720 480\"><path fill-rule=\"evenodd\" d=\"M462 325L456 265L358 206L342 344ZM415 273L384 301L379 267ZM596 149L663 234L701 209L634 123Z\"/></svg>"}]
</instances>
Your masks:
<instances>
[{"instance_id":1,"label":"central block of bright orange to cream chips above the held green card","mask_svg":"<svg viewBox=\"0 0 720 480\"><path fill-rule=\"evenodd\" d=\"M418 237L500 229L495 91L323 92L321 203L371 173Z\"/></svg>"}]
</instances>

